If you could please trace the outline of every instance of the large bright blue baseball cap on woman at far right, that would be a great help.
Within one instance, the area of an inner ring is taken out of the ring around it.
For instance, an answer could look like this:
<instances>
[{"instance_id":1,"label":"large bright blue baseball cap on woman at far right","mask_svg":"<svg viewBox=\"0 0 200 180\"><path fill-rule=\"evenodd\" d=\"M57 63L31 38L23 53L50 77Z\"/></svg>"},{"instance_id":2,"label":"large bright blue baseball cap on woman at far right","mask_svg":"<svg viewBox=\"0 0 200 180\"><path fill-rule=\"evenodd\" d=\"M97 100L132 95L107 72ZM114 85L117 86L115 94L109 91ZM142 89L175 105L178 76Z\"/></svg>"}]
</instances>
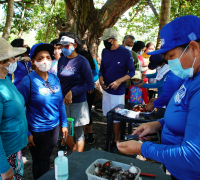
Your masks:
<instances>
[{"instance_id":1,"label":"large bright blue baseball cap on woman at far right","mask_svg":"<svg viewBox=\"0 0 200 180\"><path fill-rule=\"evenodd\" d=\"M175 18L160 31L161 48L148 55L163 54L177 46L200 39L200 18L193 15Z\"/></svg>"}]
</instances>

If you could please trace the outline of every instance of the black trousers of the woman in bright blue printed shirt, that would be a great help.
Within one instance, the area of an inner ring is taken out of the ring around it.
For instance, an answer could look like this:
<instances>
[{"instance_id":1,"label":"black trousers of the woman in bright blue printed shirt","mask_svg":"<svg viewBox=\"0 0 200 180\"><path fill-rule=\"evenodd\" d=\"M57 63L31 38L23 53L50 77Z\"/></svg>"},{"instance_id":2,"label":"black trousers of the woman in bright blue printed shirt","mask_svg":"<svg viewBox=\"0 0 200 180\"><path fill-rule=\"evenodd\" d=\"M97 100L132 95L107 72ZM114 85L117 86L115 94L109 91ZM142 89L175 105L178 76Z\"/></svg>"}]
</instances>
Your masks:
<instances>
[{"instance_id":1,"label":"black trousers of the woman in bright blue printed shirt","mask_svg":"<svg viewBox=\"0 0 200 180\"><path fill-rule=\"evenodd\" d=\"M50 160L54 147L58 141L59 125L45 132L31 132L34 147L30 147L33 159L33 177L38 179L50 169Z\"/></svg>"}]
</instances>

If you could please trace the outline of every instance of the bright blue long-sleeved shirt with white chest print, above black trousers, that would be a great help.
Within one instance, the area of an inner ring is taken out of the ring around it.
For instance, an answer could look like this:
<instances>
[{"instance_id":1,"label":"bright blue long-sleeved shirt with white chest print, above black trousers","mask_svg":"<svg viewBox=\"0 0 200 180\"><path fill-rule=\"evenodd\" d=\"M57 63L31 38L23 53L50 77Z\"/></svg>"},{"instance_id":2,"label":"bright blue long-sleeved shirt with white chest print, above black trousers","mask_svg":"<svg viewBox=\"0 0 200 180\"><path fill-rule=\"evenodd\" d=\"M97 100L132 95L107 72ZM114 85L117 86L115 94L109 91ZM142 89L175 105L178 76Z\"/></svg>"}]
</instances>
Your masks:
<instances>
[{"instance_id":1,"label":"bright blue long-sleeved shirt with white chest print, above black trousers","mask_svg":"<svg viewBox=\"0 0 200 180\"><path fill-rule=\"evenodd\" d=\"M33 132L44 132L54 129L59 122L67 127L67 116L63 101L60 81L49 73L48 86L35 71L25 76L18 86L25 99L28 129ZM29 134L30 135L30 132Z\"/></svg>"}]
</instances>

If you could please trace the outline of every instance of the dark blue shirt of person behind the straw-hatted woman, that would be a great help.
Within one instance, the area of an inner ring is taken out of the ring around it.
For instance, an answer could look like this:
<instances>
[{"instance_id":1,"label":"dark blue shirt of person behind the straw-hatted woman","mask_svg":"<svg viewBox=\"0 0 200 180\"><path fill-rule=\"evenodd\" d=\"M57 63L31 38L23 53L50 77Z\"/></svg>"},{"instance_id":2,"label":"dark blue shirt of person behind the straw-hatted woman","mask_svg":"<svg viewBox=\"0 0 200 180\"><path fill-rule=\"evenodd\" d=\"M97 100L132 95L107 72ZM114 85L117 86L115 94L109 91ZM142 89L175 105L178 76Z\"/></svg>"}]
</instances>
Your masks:
<instances>
[{"instance_id":1,"label":"dark blue shirt of person behind the straw-hatted woman","mask_svg":"<svg viewBox=\"0 0 200 180\"><path fill-rule=\"evenodd\" d=\"M18 88L21 80L24 76L28 75L32 71L31 62L18 61L17 69L13 74L8 74L8 77L12 81L12 83Z\"/></svg>"}]
</instances>

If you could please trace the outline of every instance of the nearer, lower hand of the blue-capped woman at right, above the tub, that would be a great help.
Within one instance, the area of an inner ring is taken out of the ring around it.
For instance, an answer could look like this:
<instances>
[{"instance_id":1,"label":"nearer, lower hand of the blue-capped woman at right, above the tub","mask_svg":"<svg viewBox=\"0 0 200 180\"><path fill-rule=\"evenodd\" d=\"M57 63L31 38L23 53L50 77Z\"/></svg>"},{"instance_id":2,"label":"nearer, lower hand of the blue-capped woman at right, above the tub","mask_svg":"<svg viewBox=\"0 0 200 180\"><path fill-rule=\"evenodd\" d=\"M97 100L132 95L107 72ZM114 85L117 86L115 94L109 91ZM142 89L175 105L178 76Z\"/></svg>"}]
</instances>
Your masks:
<instances>
[{"instance_id":1,"label":"nearer, lower hand of the blue-capped woman at right, above the tub","mask_svg":"<svg viewBox=\"0 0 200 180\"><path fill-rule=\"evenodd\" d=\"M125 154L141 154L142 143L137 141L117 142L117 148Z\"/></svg>"}]
</instances>

